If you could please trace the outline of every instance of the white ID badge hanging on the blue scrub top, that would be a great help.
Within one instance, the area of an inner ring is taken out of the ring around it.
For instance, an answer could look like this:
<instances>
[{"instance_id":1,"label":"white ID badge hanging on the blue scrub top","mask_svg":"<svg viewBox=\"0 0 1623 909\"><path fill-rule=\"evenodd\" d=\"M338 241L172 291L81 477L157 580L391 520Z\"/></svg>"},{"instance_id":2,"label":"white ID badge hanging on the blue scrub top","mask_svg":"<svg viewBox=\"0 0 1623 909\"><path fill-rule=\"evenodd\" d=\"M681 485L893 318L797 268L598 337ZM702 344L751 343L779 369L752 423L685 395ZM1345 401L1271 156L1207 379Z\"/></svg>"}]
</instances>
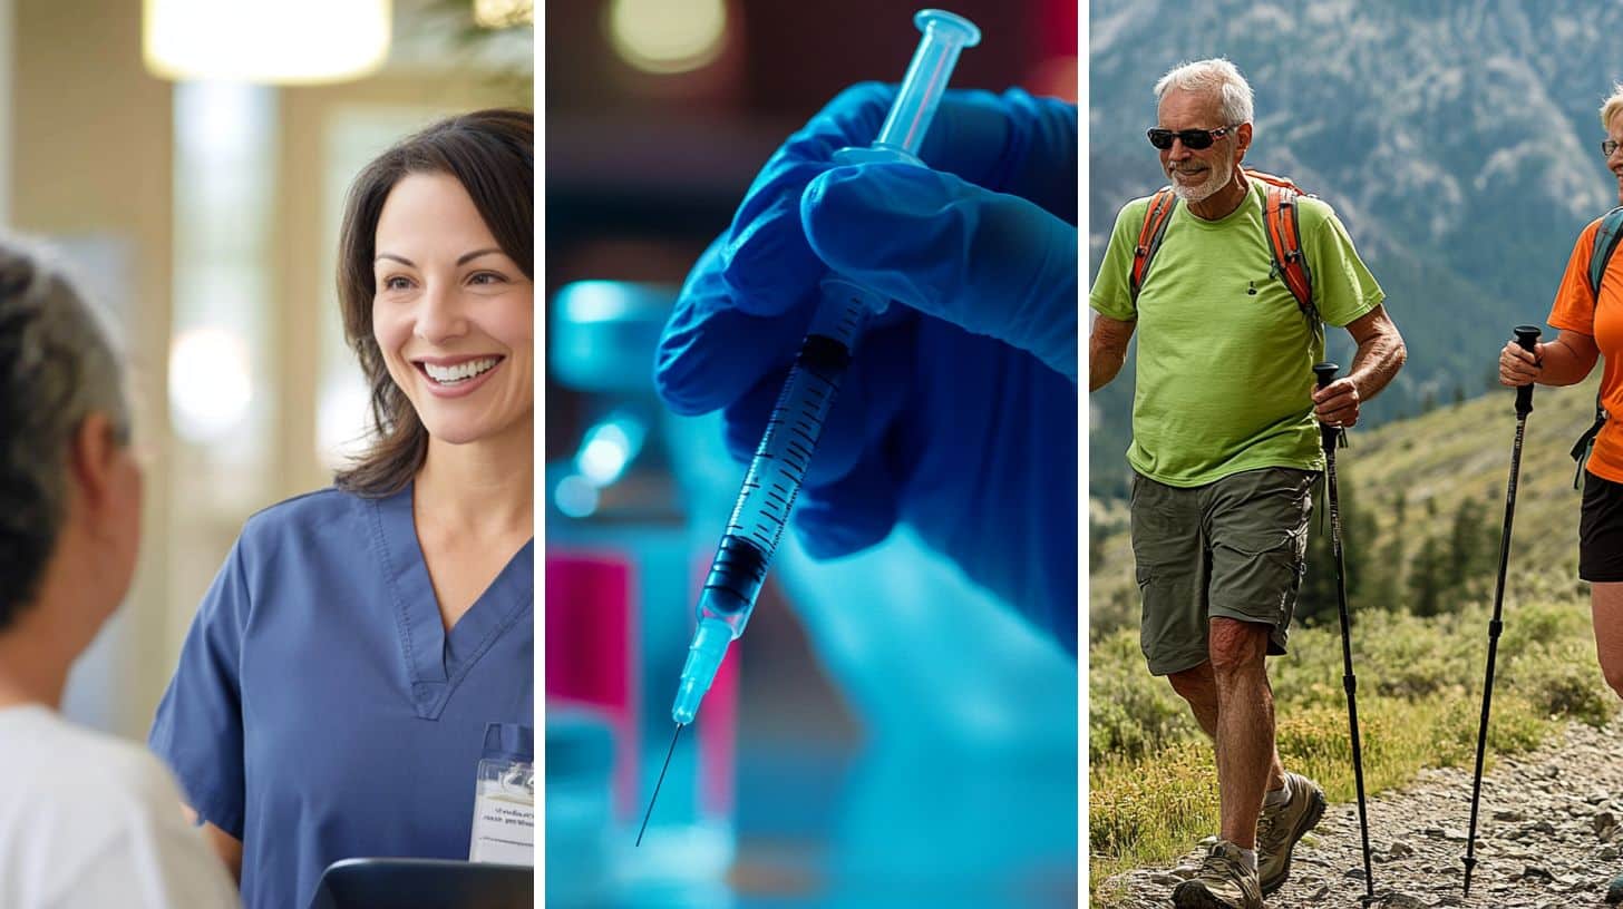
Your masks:
<instances>
[{"instance_id":1,"label":"white ID badge hanging on the blue scrub top","mask_svg":"<svg viewBox=\"0 0 1623 909\"><path fill-rule=\"evenodd\" d=\"M469 862L536 865L536 730L518 722L485 726L474 782Z\"/></svg>"}]
</instances>

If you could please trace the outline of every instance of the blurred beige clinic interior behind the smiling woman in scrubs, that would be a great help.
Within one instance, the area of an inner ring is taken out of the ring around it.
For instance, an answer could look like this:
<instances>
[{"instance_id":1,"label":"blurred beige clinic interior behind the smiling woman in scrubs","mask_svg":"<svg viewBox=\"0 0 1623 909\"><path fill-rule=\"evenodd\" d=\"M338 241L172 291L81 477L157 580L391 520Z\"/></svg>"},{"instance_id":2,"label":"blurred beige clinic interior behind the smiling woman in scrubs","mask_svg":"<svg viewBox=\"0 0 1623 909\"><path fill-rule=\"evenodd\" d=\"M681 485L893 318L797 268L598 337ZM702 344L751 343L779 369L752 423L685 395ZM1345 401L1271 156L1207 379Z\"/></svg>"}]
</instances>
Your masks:
<instances>
[{"instance_id":1,"label":"blurred beige clinic interior behind the smiling woman in scrubs","mask_svg":"<svg viewBox=\"0 0 1623 909\"><path fill-rule=\"evenodd\" d=\"M529 3L0 0L0 222L62 250L133 364L130 601L71 719L146 739L243 519L364 432L338 320L351 177L464 109L534 104Z\"/></svg>"}]
</instances>

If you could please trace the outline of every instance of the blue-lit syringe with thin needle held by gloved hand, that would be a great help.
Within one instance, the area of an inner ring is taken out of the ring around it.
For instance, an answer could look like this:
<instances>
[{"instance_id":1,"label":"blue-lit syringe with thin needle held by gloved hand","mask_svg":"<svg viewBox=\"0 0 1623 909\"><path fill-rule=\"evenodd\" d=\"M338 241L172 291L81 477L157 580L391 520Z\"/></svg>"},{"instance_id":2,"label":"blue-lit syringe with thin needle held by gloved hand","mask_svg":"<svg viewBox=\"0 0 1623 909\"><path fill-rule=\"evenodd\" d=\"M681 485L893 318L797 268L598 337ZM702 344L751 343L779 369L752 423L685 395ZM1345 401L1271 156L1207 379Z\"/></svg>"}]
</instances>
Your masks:
<instances>
[{"instance_id":1,"label":"blue-lit syringe with thin needle held by gloved hand","mask_svg":"<svg viewBox=\"0 0 1623 909\"><path fill-rule=\"evenodd\" d=\"M834 153L836 164L899 162L923 167L919 161L919 144L923 141L930 120L941 104L941 93L964 47L980 42L980 29L969 19L941 10L920 10L914 24L923 32L914 50L907 75L902 78L889 115L878 138L868 148L842 148ZM755 597L766 581L766 568L777 552L777 541L789 523L789 513L800 493L812 454L823 433L823 422L839 393L841 378L850 364L857 336L868 315L883 312L888 299L867 287L829 274L823 278L821 300L807 338L800 346L789 378L777 396L773 416L766 422L761 445L743 476L738 503L732 510L721 547L711 563L704 591L698 602L698 630L688 644L688 659L682 667L677 700L670 706L670 719L677 730L670 737L675 750L682 727L693 722L700 701L709 691L727 644L743 635L745 623L755 610ZM670 753L665 755L670 765ZM664 782L665 771L659 771ZM659 784L654 786L654 799ZM649 799L643 829L654 812ZM638 842L643 834L638 834Z\"/></svg>"}]
</instances>

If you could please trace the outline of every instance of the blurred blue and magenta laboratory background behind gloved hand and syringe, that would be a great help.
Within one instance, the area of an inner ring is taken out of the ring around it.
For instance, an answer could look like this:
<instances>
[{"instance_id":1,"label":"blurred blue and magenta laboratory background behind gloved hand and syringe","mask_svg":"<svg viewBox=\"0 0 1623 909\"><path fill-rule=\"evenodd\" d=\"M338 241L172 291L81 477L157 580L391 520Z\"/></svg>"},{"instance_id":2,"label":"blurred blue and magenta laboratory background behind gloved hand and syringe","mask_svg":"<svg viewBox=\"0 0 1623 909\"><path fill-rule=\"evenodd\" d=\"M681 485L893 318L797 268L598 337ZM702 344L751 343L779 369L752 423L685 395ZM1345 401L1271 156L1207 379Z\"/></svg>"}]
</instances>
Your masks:
<instances>
[{"instance_id":1,"label":"blurred blue and magenta laboratory background behind gloved hand and syringe","mask_svg":"<svg viewBox=\"0 0 1623 909\"><path fill-rule=\"evenodd\" d=\"M786 534L633 847L743 477L654 342L771 151L901 80L915 8L545 6L549 906L1076 903L1076 664L906 529L828 563ZM949 8L984 34L953 86L1076 99L1074 0Z\"/></svg>"}]
</instances>

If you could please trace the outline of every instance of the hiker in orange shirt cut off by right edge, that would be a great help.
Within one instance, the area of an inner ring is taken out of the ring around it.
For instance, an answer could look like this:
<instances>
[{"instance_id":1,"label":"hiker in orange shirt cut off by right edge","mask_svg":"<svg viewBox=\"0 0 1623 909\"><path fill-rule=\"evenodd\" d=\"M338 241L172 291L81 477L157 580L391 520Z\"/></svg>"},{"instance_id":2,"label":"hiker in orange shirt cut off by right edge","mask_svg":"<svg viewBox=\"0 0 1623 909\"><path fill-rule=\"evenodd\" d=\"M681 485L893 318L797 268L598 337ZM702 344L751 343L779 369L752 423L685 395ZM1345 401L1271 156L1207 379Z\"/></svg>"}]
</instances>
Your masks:
<instances>
[{"instance_id":1,"label":"hiker in orange shirt cut off by right edge","mask_svg":"<svg viewBox=\"0 0 1623 909\"><path fill-rule=\"evenodd\" d=\"M1617 180L1623 203L1623 83L1600 104L1600 154ZM1600 672L1623 695L1623 208L1589 222L1573 245L1566 271L1545 320L1558 330L1553 341L1524 351L1516 341L1500 349L1500 383L1522 386L1574 385L1605 360L1595 401L1595 422L1573 456L1582 474L1584 500L1578 518L1578 578L1589 581ZM1607 893L1623 903L1623 875Z\"/></svg>"}]
</instances>

